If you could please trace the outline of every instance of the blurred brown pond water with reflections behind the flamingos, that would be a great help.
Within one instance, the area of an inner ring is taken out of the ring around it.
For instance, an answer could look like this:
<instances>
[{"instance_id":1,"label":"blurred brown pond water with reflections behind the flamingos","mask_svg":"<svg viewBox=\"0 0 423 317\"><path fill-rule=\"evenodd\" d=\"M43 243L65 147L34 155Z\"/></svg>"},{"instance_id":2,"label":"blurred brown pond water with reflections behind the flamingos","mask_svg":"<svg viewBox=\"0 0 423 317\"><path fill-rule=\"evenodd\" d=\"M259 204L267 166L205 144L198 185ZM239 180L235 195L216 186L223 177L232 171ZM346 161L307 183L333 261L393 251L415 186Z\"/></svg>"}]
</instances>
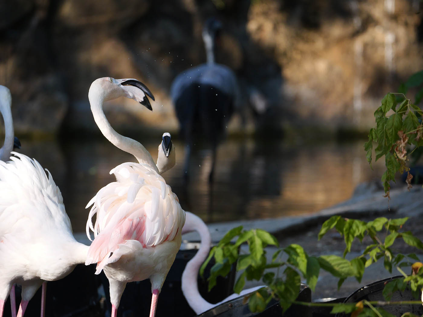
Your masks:
<instances>
[{"instance_id":1,"label":"blurred brown pond water with reflections behind the flamingos","mask_svg":"<svg viewBox=\"0 0 423 317\"><path fill-rule=\"evenodd\" d=\"M140 140L157 158L160 142ZM354 187L382 175L383 162L372 171L363 141L349 144L287 146L281 141L228 139L218 149L215 182L209 187L209 150L192 156L190 183L182 175L183 144L174 142L175 167L163 174L182 208L208 222L299 215L318 211L352 195ZM104 185L109 171L133 161L107 141L58 144L22 141L22 153L48 168L60 187L75 232L85 231L85 205Z\"/></svg>"}]
</instances>

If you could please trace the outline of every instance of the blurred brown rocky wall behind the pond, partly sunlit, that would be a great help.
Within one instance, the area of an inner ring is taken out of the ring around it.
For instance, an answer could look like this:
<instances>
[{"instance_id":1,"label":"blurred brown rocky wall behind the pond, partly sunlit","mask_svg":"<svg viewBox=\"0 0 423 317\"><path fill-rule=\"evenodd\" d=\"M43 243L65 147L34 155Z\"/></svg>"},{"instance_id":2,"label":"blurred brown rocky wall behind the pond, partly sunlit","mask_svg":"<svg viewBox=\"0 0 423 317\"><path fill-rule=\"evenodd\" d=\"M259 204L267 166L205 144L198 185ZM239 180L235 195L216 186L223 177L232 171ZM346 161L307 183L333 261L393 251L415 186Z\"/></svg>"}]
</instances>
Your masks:
<instances>
[{"instance_id":1,"label":"blurred brown rocky wall behind the pond, partly sunlit","mask_svg":"<svg viewBox=\"0 0 423 317\"><path fill-rule=\"evenodd\" d=\"M103 76L137 78L156 97L153 112L108 104L117 129L176 130L170 84L205 61L209 16L224 24L217 62L239 76L251 130L365 130L382 96L423 67L418 0L1 1L0 84L16 132L96 130L87 95Z\"/></svg>"}]
</instances>

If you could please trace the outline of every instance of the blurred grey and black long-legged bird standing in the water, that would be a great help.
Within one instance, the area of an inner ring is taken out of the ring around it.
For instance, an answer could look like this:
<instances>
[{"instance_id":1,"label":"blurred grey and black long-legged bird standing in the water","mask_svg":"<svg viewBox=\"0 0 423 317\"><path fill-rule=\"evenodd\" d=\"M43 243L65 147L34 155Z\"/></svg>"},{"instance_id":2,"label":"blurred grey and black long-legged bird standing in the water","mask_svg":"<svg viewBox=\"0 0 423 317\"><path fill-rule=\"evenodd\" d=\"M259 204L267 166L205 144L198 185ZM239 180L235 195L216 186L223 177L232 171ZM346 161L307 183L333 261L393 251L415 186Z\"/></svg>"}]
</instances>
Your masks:
<instances>
[{"instance_id":1,"label":"blurred grey and black long-legged bird standing in the water","mask_svg":"<svg viewBox=\"0 0 423 317\"><path fill-rule=\"evenodd\" d=\"M211 144L212 163L209 182L213 180L217 144L225 134L225 126L239 108L241 94L235 73L214 62L214 47L222 23L210 18L203 27L207 62L184 70L173 80L170 96L179 121L181 138L186 142L184 178L188 180L190 154L194 138L203 134Z\"/></svg>"}]
</instances>

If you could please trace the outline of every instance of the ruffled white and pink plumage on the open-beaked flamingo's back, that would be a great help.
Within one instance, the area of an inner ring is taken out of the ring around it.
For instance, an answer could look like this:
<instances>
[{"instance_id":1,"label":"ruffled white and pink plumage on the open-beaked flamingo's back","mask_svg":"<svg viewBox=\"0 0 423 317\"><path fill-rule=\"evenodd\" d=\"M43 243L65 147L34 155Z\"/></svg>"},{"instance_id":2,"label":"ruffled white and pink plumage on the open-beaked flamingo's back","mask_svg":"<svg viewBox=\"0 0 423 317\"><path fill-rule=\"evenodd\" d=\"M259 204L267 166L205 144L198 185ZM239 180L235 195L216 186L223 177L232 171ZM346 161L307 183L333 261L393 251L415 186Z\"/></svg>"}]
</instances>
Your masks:
<instances>
[{"instance_id":1,"label":"ruffled white and pink plumage on the open-beaked flamingo's back","mask_svg":"<svg viewBox=\"0 0 423 317\"><path fill-rule=\"evenodd\" d=\"M178 198L148 165L123 163L110 173L117 181L100 189L86 207L93 205L86 230L90 239L89 231L93 231L94 240L85 264L97 263L97 274L106 264L118 260L112 253L126 241L139 241L143 248L154 247L173 240L185 222ZM121 249L119 257L125 253Z\"/></svg>"}]
</instances>

